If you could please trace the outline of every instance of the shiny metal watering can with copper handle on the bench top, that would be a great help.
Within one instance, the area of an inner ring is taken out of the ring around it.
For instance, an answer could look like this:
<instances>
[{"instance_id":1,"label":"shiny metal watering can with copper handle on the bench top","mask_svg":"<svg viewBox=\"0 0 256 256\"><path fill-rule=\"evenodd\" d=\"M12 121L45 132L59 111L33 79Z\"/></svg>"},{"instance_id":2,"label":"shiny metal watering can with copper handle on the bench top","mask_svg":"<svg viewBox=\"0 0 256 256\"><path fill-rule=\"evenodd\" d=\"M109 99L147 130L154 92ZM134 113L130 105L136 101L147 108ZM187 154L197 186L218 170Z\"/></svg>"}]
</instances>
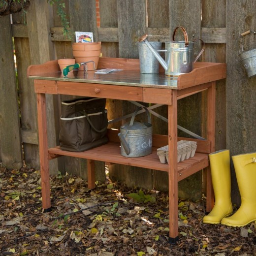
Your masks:
<instances>
[{"instance_id":1,"label":"shiny metal watering can with copper handle on the bench top","mask_svg":"<svg viewBox=\"0 0 256 256\"><path fill-rule=\"evenodd\" d=\"M175 41L175 33L178 29L181 29L185 41ZM155 57L165 70L166 76L178 76L184 73L189 73L193 70L193 64L198 60L200 55L204 51L203 40L196 38L192 42L188 40L188 34L183 27L177 27L172 34L172 41L165 42L165 61L159 55L159 53L150 45L147 41L148 35L145 34L140 37L139 42L145 42L148 48L152 51ZM200 40L202 42L202 49L200 53L194 59L194 41Z\"/></svg>"}]
</instances>

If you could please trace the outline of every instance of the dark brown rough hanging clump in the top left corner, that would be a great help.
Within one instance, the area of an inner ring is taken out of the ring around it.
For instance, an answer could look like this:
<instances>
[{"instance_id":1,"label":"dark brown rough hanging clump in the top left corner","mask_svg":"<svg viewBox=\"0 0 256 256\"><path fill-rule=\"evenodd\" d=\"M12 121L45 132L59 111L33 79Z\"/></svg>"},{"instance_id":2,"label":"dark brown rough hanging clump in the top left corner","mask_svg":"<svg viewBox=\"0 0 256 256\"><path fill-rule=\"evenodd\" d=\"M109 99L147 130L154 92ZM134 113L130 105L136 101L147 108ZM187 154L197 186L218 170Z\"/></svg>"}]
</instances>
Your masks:
<instances>
[{"instance_id":1,"label":"dark brown rough hanging clump in the top left corner","mask_svg":"<svg viewBox=\"0 0 256 256\"><path fill-rule=\"evenodd\" d=\"M0 15L25 11L30 4L31 0L0 0Z\"/></svg>"}]
</instances>

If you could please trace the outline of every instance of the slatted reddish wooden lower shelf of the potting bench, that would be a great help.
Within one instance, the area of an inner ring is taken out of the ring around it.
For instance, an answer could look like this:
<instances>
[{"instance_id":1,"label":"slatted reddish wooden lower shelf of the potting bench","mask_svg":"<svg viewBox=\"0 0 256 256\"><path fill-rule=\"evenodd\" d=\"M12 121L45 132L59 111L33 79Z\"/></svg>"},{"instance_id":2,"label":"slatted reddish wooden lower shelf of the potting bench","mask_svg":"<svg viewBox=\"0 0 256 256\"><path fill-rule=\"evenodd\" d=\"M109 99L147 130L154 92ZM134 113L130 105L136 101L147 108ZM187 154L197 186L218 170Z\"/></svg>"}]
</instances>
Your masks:
<instances>
[{"instance_id":1,"label":"slatted reddish wooden lower shelf of the potting bench","mask_svg":"<svg viewBox=\"0 0 256 256\"><path fill-rule=\"evenodd\" d=\"M120 143L108 142L102 146L84 152L70 152L61 150L60 147L48 149L49 160L61 157L76 157L83 159L98 160L111 163L119 163L130 166L143 167L153 170L168 172L167 163L160 163L157 155L157 148L152 148L152 153L145 157L128 158L121 155ZM193 158L178 162L177 175L178 181L185 179L193 173L209 165L208 154L195 153Z\"/></svg>"}]
</instances>

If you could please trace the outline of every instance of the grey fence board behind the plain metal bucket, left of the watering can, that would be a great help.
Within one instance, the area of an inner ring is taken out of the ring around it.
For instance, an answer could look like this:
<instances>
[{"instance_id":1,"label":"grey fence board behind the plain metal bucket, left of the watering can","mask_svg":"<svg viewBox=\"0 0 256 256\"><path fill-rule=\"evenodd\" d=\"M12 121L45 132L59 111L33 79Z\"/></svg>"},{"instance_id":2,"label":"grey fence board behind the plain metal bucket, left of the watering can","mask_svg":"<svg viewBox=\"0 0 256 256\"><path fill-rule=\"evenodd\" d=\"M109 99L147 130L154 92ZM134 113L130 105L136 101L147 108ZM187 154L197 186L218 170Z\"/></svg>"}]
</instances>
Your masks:
<instances>
[{"instance_id":1,"label":"grey fence board behind the plain metal bucket, left of the watering can","mask_svg":"<svg viewBox=\"0 0 256 256\"><path fill-rule=\"evenodd\" d=\"M146 2L144 0L117 0L117 15L119 57L138 59L138 39L146 32ZM122 115L132 113L135 109L136 107L127 101L122 103ZM109 177L120 181L124 181L125 177L128 186L134 186L137 183L137 186L151 189L152 170L138 169L120 164L110 165Z\"/></svg>"}]
</instances>

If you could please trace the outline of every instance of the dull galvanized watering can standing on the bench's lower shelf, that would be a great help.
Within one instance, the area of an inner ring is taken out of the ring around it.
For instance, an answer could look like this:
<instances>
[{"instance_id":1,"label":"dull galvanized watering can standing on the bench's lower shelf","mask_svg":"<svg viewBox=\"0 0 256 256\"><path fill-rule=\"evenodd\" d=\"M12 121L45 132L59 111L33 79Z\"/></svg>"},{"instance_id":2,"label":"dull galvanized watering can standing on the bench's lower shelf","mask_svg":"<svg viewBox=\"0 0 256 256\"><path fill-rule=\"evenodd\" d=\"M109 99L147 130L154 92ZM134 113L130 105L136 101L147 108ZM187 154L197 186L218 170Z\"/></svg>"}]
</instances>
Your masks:
<instances>
[{"instance_id":1,"label":"dull galvanized watering can standing on the bench's lower shelf","mask_svg":"<svg viewBox=\"0 0 256 256\"><path fill-rule=\"evenodd\" d=\"M135 116L140 109L145 109L148 122L134 122ZM118 136L121 141L121 155L129 158L143 157L152 152L153 128L149 111L146 107L138 107L133 113L129 123L120 128Z\"/></svg>"}]
</instances>

